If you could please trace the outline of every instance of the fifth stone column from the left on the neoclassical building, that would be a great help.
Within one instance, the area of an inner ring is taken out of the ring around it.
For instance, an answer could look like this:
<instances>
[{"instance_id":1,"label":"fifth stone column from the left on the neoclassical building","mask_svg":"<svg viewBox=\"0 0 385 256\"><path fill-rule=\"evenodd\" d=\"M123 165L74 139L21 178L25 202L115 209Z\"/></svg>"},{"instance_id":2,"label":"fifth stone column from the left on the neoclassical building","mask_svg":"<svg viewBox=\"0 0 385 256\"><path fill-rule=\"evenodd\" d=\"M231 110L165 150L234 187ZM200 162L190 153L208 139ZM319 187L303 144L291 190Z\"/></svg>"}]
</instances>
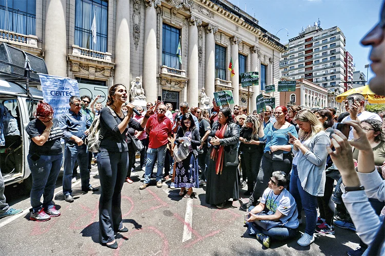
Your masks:
<instances>
[{"instance_id":1,"label":"fifth stone column from the left on the neoclassical building","mask_svg":"<svg viewBox=\"0 0 385 256\"><path fill-rule=\"evenodd\" d=\"M215 92L215 38L214 38L214 35L215 33L217 33L217 31L218 31L218 28L214 27L211 24L208 24L206 27L205 89L206 89L206 95L210 97L210 104L211 104L211 100L214 98L214 92Z\"/></svg>"}]
</instances>

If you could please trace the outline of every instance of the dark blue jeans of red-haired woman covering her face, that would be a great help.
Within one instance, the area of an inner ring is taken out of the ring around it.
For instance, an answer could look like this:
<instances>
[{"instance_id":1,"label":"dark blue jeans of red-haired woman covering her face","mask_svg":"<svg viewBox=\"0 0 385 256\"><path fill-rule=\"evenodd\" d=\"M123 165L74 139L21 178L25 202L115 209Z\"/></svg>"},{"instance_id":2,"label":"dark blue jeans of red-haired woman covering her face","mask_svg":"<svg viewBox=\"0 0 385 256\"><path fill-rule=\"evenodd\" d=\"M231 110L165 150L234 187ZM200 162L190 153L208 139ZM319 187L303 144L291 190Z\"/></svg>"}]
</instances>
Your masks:
<instances>
[{"instance_id":1,"label":"dark blue jeans of red-haired woman covering her face","mask_svg":"<svg viewBox=\"0 0 385 256\"><path fill-rule=\"evenodd\" d=\"M63 162L63 154L46 156L41 155L37 161L32 161L28 154L28 165L32 175L31 206L33 212L43 208L50 209L54 206L53 194L57 176L60 173L60 167ZM44 197L43 204L40 201Z\"/></svg>"}]
</instances>

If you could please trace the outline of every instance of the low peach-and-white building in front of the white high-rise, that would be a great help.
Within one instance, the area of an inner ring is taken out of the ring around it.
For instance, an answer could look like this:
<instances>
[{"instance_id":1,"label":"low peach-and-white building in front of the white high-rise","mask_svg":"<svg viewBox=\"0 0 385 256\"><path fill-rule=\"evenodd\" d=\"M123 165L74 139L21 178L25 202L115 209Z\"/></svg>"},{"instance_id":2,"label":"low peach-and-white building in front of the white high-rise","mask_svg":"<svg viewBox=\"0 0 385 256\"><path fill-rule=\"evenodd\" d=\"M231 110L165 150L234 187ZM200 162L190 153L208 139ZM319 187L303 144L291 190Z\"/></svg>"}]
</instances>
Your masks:
<instances>
[{"instance_id":1,"label":"low peach-and-white building in front of the white high-rise","mask_svg":"<svg viewBox=\"0 0 385 256\"><path fill-rule=\"evenodd\" d=\"M293 79L282 77L281 80ZM328 106L328 90L304 78L295 79L295 92L280 92L280 105L299 105L302 109L322 109Z\"/></svg>"}]
</instances>

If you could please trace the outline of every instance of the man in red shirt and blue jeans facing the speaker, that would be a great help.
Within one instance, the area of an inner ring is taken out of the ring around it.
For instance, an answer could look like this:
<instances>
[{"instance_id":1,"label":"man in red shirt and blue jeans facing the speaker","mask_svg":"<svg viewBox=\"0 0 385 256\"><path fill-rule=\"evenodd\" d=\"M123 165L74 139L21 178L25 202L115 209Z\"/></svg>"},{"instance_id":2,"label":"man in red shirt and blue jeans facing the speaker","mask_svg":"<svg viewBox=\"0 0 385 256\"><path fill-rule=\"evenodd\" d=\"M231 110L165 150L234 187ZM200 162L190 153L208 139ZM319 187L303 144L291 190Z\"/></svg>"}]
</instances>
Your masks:
<instances>
[{"instance_id":1,"label":"man in red shirt and blue jeans facing the speaker","mask_svg":"<svg viewBox=\"0 0 385 256\"><path fill-rule=\"evenodd\" d=\"M150 183L152 166L156 157L158 158L157 171L157 187L162 187L162 174L164 166L164 158L166 155L167 137L171 133L172 124L170 119L165 116L166 106L160 104L156 115L152 115L146 124L146 133L149 136L146 171L144 174L144 182L139 189L145 189Z\"/></svg>"}]
</instances>

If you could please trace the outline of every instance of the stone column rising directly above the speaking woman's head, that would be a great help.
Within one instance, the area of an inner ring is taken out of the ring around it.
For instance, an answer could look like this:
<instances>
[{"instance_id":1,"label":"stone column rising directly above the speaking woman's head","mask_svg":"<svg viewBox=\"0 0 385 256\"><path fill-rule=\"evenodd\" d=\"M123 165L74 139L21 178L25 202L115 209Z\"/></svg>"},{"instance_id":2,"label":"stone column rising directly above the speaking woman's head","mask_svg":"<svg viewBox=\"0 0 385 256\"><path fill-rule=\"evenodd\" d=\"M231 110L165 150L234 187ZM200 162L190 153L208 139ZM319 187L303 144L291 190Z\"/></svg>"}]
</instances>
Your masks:
<instances>
[{"instance_id":1,"label":"stone column rising directly above the speaking woman's head","mask_svg":"<svg viewBox=\"0 0 385 256\"><path fill-rule=\"evenodd\" d=\"M130 1L117 0L114 83L130 89Z\"/></svg>"}]
</instances>

